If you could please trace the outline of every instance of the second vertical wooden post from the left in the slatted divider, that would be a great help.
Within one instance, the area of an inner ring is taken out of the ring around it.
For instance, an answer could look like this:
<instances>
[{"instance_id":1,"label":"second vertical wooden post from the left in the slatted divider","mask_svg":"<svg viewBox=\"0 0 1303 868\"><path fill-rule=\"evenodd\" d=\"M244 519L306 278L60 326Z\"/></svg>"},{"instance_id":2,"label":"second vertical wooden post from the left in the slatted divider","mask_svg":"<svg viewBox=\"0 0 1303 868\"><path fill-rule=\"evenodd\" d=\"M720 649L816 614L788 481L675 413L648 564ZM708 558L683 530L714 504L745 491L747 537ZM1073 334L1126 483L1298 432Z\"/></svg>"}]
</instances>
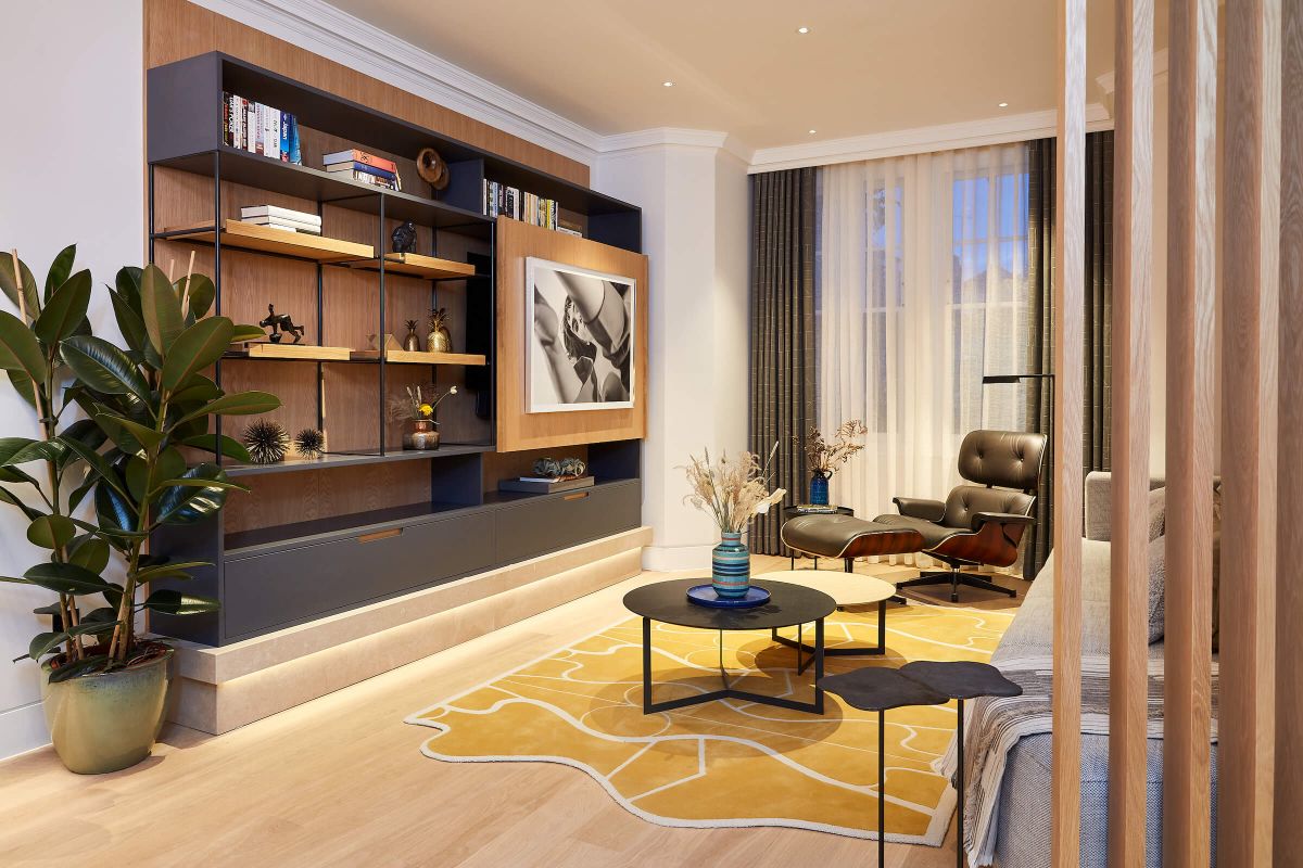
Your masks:
<instances>
[{"instance_id":1,"label":"second vertical wooden post from the left in the slatted divider","mask_svg":"<svg viewBox=\"0 0 1303 868\"><path fill-rule=\"evenodd\" d=\"M1117 0L1113 157L1113 547L1109 865L1143 868L1148 722L1153 0Z\"/></svg>"}]
</instances>

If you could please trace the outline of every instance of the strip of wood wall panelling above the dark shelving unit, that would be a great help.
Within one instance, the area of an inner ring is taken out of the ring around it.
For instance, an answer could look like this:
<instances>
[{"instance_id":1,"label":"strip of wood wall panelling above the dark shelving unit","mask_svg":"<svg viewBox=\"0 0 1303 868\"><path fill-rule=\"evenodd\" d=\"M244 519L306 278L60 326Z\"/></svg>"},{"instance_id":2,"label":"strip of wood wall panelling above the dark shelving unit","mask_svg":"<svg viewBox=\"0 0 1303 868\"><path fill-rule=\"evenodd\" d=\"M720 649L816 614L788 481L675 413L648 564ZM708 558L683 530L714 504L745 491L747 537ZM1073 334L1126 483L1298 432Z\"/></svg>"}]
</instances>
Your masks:
<instances>
[{"instance_id":1,"label":"strip of wood wall panelling above the dark shelving unit","mask_svg":"<svg viewBox=\"0 0 1303 868\"><path fill-rule=\"evenodd\" d=\"M503 133L451 108L437 105L416 94L364 75L343 64L186 0L145 0L146 69L210 51L241 57L281 75L370 105L541 172L588 185L588 167L577 160Z\"/></svg>"}]
</instances>

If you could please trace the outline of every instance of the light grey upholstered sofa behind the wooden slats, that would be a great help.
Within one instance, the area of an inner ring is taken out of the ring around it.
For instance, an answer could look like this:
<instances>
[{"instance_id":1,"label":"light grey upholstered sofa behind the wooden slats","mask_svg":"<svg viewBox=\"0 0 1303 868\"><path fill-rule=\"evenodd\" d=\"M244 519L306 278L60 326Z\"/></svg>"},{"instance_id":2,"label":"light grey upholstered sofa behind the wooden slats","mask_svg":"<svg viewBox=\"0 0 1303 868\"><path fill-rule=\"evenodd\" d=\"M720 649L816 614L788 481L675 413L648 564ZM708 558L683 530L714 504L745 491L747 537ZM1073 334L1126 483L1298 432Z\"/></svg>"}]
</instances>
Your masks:
<instances>
[{"instance_id":1,"label":"light grey upholstered sofa behind the wooden slats","mask_svg":"<svg viewBox=\"0 0 1303 868\"><path fill-rule=\"evenodd\" d=\"M1149 537L1162 534L1162 480L1151 481ZM1084 540L1081 543L1081 653L1109 652L1109 583L1110 583L1110 488L1111 476L1092 472L1085 479ZM1151 570L1162 569L1161 554L1154 562L1151 547ZM1161 587L1161 586L1160 586ZM1161 595L1157 600L1161 605ZM1153 604L1151 604L1153 608ZM1054 616L1054 556L1027 591L1009 630L1001 639L992 662L1049 655L1052 652ZM1160 616L1161 618L1161 616ZM1149 644L1149 658L1162 660L1164 643ZM969 740L968 744L972 744ZM1050 735L1038 734L1018 740L1007 755L1005 774L998 790L995 816L994 864L1002 868L1041 868L1050 864ZM1148 742L1145 783L1147 864L1162 864L1162 740ZM1108 787L1109 739L1106 735L1081 735L1081 856L1088 868L1108 864ZM1213 834L1216 835L1217 746L1212 746ZM966 824L973 817L966 813ZM1216 841L1212 852L1217 852ZM976 864L976 863L975 863Z\"/></svg>"}]
</instances>

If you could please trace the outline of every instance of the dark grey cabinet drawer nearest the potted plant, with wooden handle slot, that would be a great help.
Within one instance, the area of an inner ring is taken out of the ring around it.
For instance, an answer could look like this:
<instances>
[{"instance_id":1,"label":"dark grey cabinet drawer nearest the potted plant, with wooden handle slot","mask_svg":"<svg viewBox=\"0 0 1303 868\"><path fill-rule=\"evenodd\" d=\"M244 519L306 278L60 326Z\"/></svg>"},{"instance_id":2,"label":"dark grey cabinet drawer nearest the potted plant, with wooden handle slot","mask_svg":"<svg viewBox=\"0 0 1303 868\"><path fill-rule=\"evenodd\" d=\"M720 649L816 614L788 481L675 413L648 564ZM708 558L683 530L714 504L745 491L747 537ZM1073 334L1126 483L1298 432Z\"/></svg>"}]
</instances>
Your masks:
<instances>
[{"instance_id":1,"label":"dark grey cabinet drawer nearest the potted plant, with wooden handle slot","mask_svg":"<svg viewBox=\"0 0 1303 868\"><path fill-rule=\"evenodd\" d=\"M227 640L491 566L493 517L472 513L231 558Z\"/></svg>"}]
</instances>

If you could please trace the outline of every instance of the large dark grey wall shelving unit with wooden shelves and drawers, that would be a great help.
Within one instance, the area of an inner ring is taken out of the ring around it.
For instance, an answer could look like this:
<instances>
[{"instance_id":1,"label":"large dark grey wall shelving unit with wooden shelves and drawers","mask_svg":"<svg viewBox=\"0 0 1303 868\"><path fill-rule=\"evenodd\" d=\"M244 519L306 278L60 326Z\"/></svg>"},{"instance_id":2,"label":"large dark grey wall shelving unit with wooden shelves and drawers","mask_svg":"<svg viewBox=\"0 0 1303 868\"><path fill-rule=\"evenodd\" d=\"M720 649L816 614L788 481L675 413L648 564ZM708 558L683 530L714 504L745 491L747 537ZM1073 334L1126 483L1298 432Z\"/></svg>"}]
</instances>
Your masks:
<instances>
[{"instance_id":1,"label":"large dark grey wall shelving unit with wooden shelves and drawers","mask_svg":"<svg viewBox=\"0 0 1303 868\"><path fill-rule=\"evenodd\" d=\"M305 165L224 144L223 91L293 112ZM233 345L215 379L280 396L270 418L291 433L321 428L328 446L276 465L222 462L250 492L215 519L160 531L152 550L211 562L181 590L223 608L159 616L154 630L228 644L640 523L637 440L555 450L582 454L598 476L581 498L496 493L534 455L496 452L498 230L481 200L486 177L509 182L556 199L589 239L629 251L641 249L638 208L223 53L150 69L146 99L151 259L184 262L197 250L216 312L257 323L275 305L304 327L297 345ZM448 164L439 193L413 161L427 146ZM318 168L345 147L395 160L408 189ZM323 234L240 221L251 204L314 212ZM420 252L387 252L408 220ZM437 307L450 311L460 351L367 349L369 334L401 336L405 320ZM414 385L459 390L440 406L434 452L404 450L403 423L387 413ZM237 436L249 422L220 424Z\"/></svg>"}]
</instances>

